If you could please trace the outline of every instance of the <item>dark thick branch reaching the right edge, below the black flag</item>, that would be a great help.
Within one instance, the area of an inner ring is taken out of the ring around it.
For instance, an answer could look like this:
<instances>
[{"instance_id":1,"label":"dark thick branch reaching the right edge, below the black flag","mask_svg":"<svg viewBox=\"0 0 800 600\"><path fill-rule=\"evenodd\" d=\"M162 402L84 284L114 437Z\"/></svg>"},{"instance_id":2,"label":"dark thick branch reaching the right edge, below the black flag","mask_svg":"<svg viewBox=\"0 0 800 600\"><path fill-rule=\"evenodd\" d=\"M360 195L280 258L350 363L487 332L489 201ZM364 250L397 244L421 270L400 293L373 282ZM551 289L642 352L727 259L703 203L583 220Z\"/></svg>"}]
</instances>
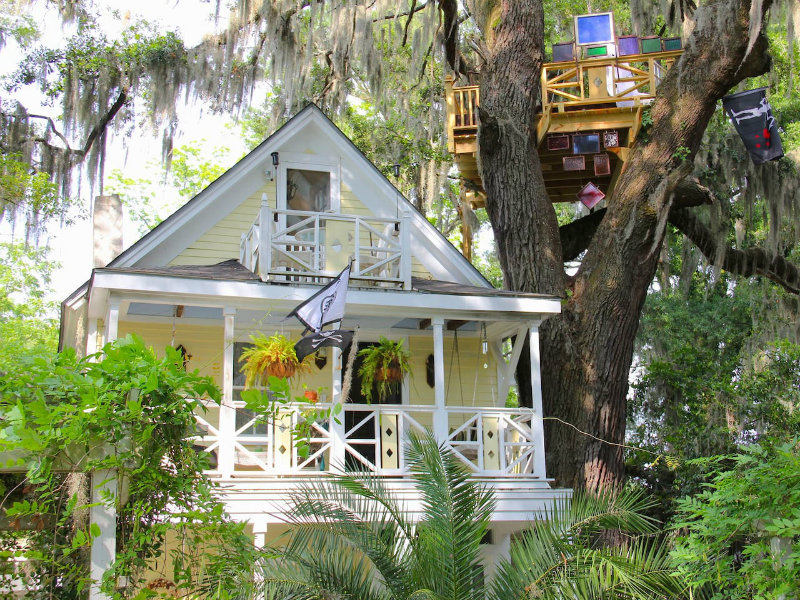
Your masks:
<instances>
[{"instance_id":1,"label":"dark thick branch reaching the right edge, below the black flag","mask_svg":"<svg viewBox=\"0 0 800 600\"><path fill-rule=\"evenodd\" d=\"M686 208L670 210L669 222L689 238L712 265L740 277L761 275L792 294L800 294L800 270L780 254L767 253L763 248L725 248L718 254L714 234Z\"/></svg>"}]
</instances>

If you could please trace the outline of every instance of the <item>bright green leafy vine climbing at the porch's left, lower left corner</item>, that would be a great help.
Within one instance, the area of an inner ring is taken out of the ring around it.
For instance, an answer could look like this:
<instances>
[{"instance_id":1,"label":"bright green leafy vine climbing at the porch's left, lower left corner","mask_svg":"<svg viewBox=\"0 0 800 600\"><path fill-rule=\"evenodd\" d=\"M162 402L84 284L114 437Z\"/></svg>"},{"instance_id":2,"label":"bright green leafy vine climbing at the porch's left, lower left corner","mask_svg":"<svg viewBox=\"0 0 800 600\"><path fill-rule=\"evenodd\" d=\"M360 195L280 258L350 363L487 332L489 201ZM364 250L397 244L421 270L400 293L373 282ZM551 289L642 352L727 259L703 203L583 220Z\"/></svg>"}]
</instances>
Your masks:
<instances>
[{"instance_id":1,"label":"bright green leafy vine climbing at the porch's left, lower left corner","mask_svg":"<svg viewBox=\"0 0 800 600\"><path fill-rule=\"evenodd\" d=\"M220 393L210 378L186 373L177 350L158 358L129 336L86 359L67 350L24 356L3 369L0 449L18 456L26 470L4 508L10 517L43 524L6 536L3 550L28 559L34 597L86 588L85 553L101 532L87 523L90 494L80 478L104 470L119 490L102 496L118 515L117 560L103 580L106 592L124 576L124 595L133 594L164 552L168 532L178 544L164 575L179 589L191 591L205 578L225 589L221 566L247 568L252 544L225 517L202 475L207 456L194 446L200 398L219 402Z\"/></svg>"}]
</instances>

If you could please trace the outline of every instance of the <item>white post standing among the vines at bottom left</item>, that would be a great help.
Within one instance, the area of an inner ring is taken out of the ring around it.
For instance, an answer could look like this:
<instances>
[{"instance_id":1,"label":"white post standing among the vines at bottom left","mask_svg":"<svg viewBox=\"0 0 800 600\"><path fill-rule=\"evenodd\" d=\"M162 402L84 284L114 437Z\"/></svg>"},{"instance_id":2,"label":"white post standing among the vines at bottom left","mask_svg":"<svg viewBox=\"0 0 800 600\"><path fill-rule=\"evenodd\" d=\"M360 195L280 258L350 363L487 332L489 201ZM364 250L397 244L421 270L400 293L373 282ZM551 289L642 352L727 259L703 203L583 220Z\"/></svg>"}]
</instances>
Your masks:
<instances>
[{"instance_id":1,"label":"white post standing among the vines at bottom left","mask_svg":"<svg viewBox=\"0 0 800 600\"><path fill-rule=\"evenodd\" d=\"M89 588L89 600L106 600L110 598L100 591L103 574L111 568L117 553L117 473L112 469L94 471L91 474L92 508L89 519L100 528L100 536L92 540L90 552L90 575L92 585ZM103 495L110 493L114 497L108 506ZM101 495L102 493L102 495Z\"/></svg>"}]
</instances>

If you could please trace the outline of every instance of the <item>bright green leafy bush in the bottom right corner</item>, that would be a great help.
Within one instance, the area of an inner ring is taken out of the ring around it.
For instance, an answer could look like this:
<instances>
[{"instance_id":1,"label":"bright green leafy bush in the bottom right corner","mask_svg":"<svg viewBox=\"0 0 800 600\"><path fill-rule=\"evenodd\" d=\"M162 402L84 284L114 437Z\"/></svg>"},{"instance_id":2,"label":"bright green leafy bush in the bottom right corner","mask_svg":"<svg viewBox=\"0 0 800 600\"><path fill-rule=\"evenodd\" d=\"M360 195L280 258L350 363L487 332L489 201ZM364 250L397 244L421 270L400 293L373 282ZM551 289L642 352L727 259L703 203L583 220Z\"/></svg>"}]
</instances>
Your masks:
<instances>
[{"instance_id":1,"label":"bright green leafy bush in the bottom right corner","mask_svg":"<svg viewBox=\"0 0 800 600\"><path fill-rule=\"evenodd\" d=\"M797 439L703 459L711 483L678 502L673 557L692 589L712 600L796 597L800 582Z\"/></svg>"}]
</instances>

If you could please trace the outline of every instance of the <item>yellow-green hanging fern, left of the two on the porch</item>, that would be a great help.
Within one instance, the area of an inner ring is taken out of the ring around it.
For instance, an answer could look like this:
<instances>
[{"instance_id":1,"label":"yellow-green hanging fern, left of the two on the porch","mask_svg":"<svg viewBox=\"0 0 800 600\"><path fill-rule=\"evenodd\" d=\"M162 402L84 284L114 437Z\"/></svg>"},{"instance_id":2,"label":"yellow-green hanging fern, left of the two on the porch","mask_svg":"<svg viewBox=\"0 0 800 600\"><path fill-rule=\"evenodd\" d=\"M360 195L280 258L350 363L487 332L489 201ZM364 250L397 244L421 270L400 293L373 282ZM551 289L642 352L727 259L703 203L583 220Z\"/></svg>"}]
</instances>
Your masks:
<instances>
[{"instance_id":1,"label":"yellow-green hanging fern, left of the two on the porch","mask_svg":"<svg viewBox=\"0 0 800 600\"><path fill-rule=\"evenodd\" d=\"M307 373L311 366L307 360L297 360L294 342L280 333L269 337L258 334L250 336L253 345L242 352L240 360L244 363L245 387L255 384L266 385L269 377L291 379L297 373Z\"/></svg>"}]
</instances>

